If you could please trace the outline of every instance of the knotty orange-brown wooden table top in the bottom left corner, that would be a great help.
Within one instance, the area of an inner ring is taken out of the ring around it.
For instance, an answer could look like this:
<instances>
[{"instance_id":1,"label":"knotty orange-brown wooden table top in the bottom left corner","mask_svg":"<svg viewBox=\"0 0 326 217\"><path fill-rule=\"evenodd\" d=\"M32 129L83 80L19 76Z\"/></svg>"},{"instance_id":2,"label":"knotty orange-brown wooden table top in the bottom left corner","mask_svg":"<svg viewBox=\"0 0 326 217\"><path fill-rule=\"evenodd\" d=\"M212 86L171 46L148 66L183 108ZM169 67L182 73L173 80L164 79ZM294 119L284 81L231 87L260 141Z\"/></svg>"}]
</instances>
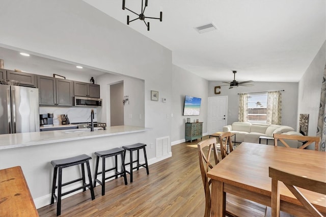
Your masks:
<instances>
[{"instance_id":1,"label":"knotty orange-brown wooden table top in the bottom left corner","mask_svg":"<svg viewBox=\"0 0 326 217\"><path fill-rule=\"evenodd\" d=\"M20 167L0 170L0 215L39 216Z\"/></svg>"}]
</instances>

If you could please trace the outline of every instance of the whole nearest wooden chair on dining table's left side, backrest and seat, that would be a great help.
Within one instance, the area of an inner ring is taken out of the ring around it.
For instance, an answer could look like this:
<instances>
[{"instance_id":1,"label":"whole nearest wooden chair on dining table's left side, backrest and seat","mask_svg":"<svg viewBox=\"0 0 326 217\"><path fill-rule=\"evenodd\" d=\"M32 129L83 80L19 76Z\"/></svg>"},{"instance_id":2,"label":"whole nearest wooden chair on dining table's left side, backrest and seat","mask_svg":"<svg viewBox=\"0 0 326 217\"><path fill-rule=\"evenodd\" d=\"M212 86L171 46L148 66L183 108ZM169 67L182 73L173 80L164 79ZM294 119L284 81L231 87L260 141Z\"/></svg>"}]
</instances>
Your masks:
<instances>
[{"instance_id":1,"label":"whole nearest wooden chair on dining table's left side, backrest and seat","mask_svg":"<svg viewBox=\"0 0 326 217\"><path fill-rule=\"evenodd\" d=\"M199 166L205 191L205 217L210 216L211 195L209 186L211 179L207 173L216 164L220 162L218 150L216 148L216 138L206 139L197 144L199 154ZM211 153L213 152L213 156ZM254 207L254 208L253 208ZM266 206L255 202L227 194L226 214L228 216L259 216L258 213L264 213ZM232 211L231 211L232 210Z\"/></svg>"}]
</instances>

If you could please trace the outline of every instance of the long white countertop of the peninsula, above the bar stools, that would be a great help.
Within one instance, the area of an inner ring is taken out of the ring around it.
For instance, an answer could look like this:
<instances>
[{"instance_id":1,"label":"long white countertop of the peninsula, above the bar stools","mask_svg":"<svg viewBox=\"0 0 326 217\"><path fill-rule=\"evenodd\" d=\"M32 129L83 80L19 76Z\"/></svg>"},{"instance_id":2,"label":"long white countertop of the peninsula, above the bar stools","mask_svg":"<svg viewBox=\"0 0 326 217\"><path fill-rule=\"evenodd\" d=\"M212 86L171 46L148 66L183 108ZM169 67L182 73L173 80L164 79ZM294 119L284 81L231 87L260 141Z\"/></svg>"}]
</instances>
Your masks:
<instances>
[{"instance_id":1,"label":"long white countertop of the peninsula, above the bar stools","mask_svg":"<svg viewBox=\"0 0 326 217\"><path fill-rule=\"evenodd\" d=\"M90 129L67 129L41 132L0 134L0 150L73 140L83 140L97 137L107 137L110 135L143 132L151 129L152 128L137 126L112 126L106 127L106 130L94 130L92 132L90 131Z\"/></svg>"}]
</instances>

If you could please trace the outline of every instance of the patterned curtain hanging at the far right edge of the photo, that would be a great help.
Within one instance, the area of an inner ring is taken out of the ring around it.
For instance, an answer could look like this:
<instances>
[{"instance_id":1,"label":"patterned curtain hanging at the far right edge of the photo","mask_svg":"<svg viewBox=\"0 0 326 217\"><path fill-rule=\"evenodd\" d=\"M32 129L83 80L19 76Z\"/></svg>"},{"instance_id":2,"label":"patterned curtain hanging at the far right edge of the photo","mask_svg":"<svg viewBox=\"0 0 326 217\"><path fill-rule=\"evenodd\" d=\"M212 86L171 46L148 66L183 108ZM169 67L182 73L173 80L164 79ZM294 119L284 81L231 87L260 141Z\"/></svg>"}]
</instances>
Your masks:
<instances>
[{"instance_id":1,"label":"patterned curtain hanging at the far right edge of the photo","mask_svg":"<svg viewBox=\"0 0 326 217\"><path fill-rule=\"evenodd\" d=\"M322 78L320 104L319 104L319 116L317 125L317 137L320 137L319 150L325 151L325 140L326 140L326 66L324 75Z\"/></svg>"}]
</instances>

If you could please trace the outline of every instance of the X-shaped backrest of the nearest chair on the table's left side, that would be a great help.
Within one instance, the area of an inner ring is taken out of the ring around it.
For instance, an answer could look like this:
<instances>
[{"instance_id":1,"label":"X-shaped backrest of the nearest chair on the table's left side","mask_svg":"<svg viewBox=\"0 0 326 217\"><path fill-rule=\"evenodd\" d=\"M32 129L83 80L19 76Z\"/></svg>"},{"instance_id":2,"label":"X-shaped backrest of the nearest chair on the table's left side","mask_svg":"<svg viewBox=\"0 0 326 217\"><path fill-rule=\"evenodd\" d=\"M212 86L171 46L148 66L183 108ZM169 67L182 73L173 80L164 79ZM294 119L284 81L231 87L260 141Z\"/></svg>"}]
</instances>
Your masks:
<instances>
[{"instance_id":1,"label":"X-shaped backrest of the nearest chair on the table's left side","mask_svg":"<svg viewBox=\"0 0 326 217\"><path fill-rule=\"evenodd\" d=\"M202 175L205 191L205 217L210 216L210 190L211 180L207 177L207 172L219 163L219 155L216 149L216 138L210 138L197 144L199 154L199 166ZM214 154L215 164L211 164L211 152Z\"/></svg>"}]
</instances>

